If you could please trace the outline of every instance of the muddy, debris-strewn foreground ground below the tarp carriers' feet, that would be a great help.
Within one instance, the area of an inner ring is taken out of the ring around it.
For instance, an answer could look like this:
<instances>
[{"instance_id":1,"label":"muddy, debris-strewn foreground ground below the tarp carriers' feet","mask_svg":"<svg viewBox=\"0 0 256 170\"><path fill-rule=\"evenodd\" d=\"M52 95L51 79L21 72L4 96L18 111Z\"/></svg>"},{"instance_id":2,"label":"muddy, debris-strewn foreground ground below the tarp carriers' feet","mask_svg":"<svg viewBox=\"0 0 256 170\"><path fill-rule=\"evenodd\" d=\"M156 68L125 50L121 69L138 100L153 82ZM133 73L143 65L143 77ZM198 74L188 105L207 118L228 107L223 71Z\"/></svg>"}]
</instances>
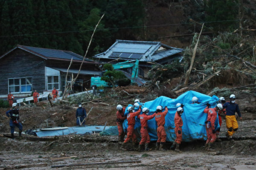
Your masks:
<instances>
[{"instance_id":1,"label":"muddy, debris-strewn foreground ground below the tarp carriers' feet","mask_svg":"<svg viewBox=\"0 0 256 170\"><path fill-rule=\"evenodd\" d=\"M221 142L215 142L216 152L204 150L204 141L183 142L182 153L173 150L155 151L154 142L147 152L123 151L117 136L71 135L61 136L53 142L27 140L26 135L15 140L0 137L0 167L12 169L15 165L30 165L19 169L177 169L177 170L246 170L256 169L256 120L239 122L234 135L236 141L227 141L225 121L220 134ZM167 144L167 149L171 143ZM233 146L233 147L232 147ZM232 147L228 150L227 148ZM226 150L216 155L216 153ZM84 164L112 161L141 161L139 163L94 164L51 168L52 165ZM0 168L0 169L1 169Z\"/></svg>"}]
</instances>

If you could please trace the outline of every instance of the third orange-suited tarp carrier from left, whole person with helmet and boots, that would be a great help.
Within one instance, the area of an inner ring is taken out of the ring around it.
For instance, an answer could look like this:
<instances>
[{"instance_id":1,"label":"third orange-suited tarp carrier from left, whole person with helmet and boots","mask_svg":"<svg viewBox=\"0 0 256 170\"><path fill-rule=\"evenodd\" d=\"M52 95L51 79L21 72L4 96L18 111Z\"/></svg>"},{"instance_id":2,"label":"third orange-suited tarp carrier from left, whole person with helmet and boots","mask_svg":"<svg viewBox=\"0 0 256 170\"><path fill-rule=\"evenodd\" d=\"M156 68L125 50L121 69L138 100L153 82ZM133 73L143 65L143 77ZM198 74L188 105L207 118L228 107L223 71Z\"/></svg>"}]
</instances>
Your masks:
<instances>
[{"instance_id":1,"label":"third orange-suited tarp carrier from left, whole person with helmet and boots","mask_svg":"<svg viewBox=\"0 0 256 170\"><path fill-rule=\"evenodd\" d=\"M148 112L149 112L148 108L143 108L142 114L138 116L141 124L141 128L140 128L141 140L140 140L139 149L138 149L139 152L143 150L144 144L145 144L145 150L149 150L148 144L150 142L150 137L148 134L148 120L153 119L156 113L152 115L148 115Z\"/></svg>"}]
</instances>

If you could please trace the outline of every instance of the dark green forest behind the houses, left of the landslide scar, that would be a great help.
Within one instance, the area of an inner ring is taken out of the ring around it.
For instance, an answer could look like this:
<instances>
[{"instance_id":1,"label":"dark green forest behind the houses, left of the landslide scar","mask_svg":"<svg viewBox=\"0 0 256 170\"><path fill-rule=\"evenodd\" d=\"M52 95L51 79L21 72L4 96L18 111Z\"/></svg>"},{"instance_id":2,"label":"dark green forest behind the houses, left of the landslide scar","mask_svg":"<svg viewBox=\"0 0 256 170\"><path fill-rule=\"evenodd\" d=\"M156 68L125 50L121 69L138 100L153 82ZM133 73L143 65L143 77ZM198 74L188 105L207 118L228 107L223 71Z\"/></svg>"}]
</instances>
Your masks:
<instances>
[{"instance_id":1,"label":"dark green forest behind the houses, left of the landslide scar","mask_svg":"<svg viewBox=\"0 0 256 170\"><path fill-rule=\"evenodd\" d=\"M91 44L88 56L92 56L117 38L134 39L142 28L119 28L141 26L144 17L141 0L0 0L0 6L0 55L17 44L84 55L96 23L105 14Z\"/></svg>"}]
</instances>

